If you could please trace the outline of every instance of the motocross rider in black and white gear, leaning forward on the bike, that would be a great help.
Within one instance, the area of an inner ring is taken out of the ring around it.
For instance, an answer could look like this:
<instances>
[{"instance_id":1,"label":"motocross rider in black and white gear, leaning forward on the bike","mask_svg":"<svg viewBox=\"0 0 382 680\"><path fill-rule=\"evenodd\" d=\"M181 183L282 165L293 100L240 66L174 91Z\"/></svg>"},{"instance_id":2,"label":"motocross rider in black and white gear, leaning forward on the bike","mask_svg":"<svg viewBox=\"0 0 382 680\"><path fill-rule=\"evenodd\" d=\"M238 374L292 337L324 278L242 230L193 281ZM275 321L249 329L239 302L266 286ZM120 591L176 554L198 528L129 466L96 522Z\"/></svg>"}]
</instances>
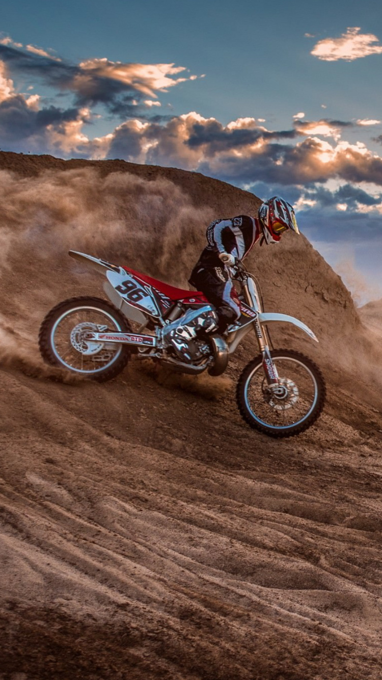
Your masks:
<instances>
[{"instance_id":1,"label":"motocross rider in black and white gear, leaning forward on the bike","mask_svg":"<svg viewBox=\"0 0 382 680\"><path fill-rule=\"evenodd\" d=\"M300 233L292 205L277 196L260 205L257 217L239 215L209 224L207 246L192 269L189 283L205 294L215 311L189 324L179 319L177 328L171 331L171 343L179 356L190 359L187 343L195 335L224 333L239 318L239 301L232 284L236 260L243 260L260 238L260 245L278 243L288 229Z\"/></svg>"}]
</instances>

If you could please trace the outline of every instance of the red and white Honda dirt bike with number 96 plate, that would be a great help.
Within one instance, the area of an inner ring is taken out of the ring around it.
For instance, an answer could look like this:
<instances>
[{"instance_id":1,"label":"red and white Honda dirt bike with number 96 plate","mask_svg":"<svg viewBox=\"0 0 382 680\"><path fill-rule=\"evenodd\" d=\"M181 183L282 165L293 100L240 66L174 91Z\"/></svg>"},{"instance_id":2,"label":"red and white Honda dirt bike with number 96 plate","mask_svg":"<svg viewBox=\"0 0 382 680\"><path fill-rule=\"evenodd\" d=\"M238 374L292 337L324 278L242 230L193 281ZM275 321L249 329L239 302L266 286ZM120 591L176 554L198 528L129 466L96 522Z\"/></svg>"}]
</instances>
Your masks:
<instances>
[{"instance_id":1,"label":"red and white Honda dirt bike with number 96 plate","mask_svg":"<svg viewBox=\"0 0 382 680\"><path fill-rule=\"evenodd\" d=\"M84 253L71 250L69 255L105 275L103 290L110 302L75 297L47 314L39 332L39 349L49 364L106 381L118 375L135 354L181 373L198 375L207 370L210 375L221 375L230 355L252 331L260 354L243 369L237 384L237 404L245 422L271 437L290 437L317 420L326 396L322 373L300 352L270 350L266 326L288 322L314 341L317 338L298 319L262 310L254 276L242 262L237 261L231 270L239 288L241 316L224 335L207 335L203 323L214 308L203 293L174 288ZM171 343L179 320L182 326L186 321L194 328L187 341L187 359L179 358Z\"/></svg>"}]
</instances>

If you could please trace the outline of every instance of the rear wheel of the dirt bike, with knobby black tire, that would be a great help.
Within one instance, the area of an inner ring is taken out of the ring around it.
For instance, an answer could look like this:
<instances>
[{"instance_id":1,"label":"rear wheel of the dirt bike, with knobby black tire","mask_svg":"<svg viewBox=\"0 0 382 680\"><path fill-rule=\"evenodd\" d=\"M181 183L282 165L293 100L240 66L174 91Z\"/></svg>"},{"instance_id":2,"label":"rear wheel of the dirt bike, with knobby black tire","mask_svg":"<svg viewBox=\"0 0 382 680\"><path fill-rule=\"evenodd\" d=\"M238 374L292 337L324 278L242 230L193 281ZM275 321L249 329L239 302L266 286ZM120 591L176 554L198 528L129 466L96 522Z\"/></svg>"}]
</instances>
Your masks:
<instances>
[{"instance_id":1,"label":"rear wheel of the dirt bike, with knobby black tire","mask_svg":"<svg viewBox=\"0 0 382 680\"><path fill-rule=\"evenodd\" d=\"M48 312L39 330L39 350L44 361L77 375L103 382L116 377L131 352L122 343L86 341L86 331L131 333L120 311L96 297L75 297Z\"/></svg>"}]
</instances>

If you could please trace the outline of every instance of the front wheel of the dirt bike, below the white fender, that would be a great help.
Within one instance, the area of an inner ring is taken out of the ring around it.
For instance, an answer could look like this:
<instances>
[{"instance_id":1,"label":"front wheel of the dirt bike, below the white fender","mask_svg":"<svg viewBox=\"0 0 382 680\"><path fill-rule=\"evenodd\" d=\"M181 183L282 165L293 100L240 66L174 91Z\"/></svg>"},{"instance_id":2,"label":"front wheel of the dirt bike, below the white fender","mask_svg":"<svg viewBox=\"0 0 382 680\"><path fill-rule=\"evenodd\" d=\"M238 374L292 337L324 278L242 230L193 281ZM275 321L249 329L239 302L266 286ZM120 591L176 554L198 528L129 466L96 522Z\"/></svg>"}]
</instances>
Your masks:
<instances>
[{"instance_id":1,"label":"front wheel of the dirt bike, below the white fender","mask_svg":"<svg viewBox=\"0 0 382 680\"><path fill-rule=\"evenodd\" d=\"M262 355L249 362L237 384L237 405L245 422L270 437L292 437L307 430L324 408L326 388L321 371L300 352L273 350L279 376L268 386Z\"/></svg>"}]
</instances>

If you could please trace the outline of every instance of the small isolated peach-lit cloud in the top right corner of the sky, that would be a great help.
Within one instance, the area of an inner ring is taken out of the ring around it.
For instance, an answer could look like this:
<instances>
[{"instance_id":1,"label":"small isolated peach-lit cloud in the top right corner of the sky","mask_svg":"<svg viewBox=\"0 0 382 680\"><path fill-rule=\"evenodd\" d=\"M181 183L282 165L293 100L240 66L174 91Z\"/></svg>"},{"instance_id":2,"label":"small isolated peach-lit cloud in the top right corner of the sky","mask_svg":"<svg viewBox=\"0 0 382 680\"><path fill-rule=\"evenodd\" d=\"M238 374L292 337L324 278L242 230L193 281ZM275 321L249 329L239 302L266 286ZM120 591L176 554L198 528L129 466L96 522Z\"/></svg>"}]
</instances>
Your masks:
<instances>
[{"instance_id":1,"label":"small isolated peach-lit cloud in the top right corner of the sky","mask_svg":"<svg viewBox=\"0 0 382 680\"><path fill-rule=\"evenodd\" d=\"M339 38L319 40L311 50L322 61L354 61L369 54L382 54L382 45L372 33L360 33L359 27L348 28Z\"/></svg>"}]
</instances>

